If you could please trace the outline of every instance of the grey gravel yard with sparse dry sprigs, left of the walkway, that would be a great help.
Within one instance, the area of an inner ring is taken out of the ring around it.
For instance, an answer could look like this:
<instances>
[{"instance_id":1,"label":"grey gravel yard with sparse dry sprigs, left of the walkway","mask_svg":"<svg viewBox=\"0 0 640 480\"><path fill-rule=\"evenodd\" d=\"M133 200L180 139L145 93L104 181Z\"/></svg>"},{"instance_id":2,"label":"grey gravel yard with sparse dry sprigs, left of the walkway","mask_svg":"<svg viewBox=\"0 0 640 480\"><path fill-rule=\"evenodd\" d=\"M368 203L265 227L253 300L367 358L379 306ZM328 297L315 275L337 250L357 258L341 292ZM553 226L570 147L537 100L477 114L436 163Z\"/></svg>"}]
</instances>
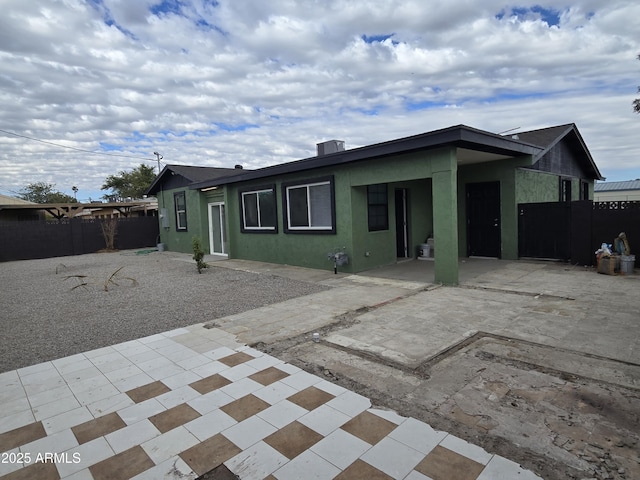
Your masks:
<instances>
[{"instance_id":1,"label":"grey gravel yard with sparse dry sprigs, left of the walkway","mask_svg":"<svg viewBox=\"0 0 640 480\"><path fill-rule=\"evenodd\" d=\"M190 255L136 251L0 263L0 372L328 288L217 264L198 274Z\"/></svg>"}]
</instances>

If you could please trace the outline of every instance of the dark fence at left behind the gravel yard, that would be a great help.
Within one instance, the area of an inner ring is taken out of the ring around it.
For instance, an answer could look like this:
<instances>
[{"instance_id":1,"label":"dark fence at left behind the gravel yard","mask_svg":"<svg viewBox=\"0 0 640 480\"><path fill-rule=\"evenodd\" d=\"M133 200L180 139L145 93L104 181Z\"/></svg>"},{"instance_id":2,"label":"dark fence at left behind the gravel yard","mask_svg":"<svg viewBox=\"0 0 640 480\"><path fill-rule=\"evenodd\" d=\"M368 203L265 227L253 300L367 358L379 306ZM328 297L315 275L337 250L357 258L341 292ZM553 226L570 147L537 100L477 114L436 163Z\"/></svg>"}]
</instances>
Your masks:
<instances>
[{"instance_id":1,"label":"dark fence at left behind the gravel yard","mask_svg":"<svg viewBox=\"0 0 640 480\"><path fill-rule=\"evenodd\" d=\"M0 261L64 257L94 253L106 247L100 219L12 221L0 223ZM118 250L155 246L157 217L113 219L117 222L114 246Z\"/></svg>"}]
</instances>

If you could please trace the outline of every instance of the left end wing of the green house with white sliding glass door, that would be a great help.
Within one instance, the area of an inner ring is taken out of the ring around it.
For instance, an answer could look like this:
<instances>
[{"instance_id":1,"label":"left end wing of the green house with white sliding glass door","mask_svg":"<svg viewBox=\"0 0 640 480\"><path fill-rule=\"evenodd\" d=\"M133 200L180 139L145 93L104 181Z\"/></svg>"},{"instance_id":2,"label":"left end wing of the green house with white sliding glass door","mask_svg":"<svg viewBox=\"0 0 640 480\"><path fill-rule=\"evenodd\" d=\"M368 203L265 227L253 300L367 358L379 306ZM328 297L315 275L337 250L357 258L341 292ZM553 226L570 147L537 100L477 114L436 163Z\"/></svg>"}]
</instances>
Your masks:
<instances>
[{"instance_id":1,"label":"left end wing of the green house with white sliding glass door","mask_svg":"<svg viewBox=\"0 0 640 480\"><path fill-rule=\"evenodd\" d=\"M162 169L146 193L158 199L160 242L167 250L193 252L192 240L198 237L210 253L228 253L224 188L199 191L189 187L241 172L245 170L240 165L235 168L166 165Z\"/></svg>"}]
</instances>

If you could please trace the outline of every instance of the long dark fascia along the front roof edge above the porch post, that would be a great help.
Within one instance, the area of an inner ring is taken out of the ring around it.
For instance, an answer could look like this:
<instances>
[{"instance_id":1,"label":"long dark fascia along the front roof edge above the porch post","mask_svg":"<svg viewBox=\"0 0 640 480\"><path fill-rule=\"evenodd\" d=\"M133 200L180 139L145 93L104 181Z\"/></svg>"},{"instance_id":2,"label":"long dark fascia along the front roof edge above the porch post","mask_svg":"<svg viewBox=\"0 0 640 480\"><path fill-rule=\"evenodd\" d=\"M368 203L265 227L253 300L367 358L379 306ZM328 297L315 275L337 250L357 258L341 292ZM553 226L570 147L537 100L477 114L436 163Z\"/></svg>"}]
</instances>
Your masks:
<instances>
[{"instance_id":1,"label":"long dark fascia along the front roof edge above the porch post","mask_svg":"<svg viewBox=\"0 0 640 480\"><path fill-rule=\"evenodd\" d=\"M242 175L232 175L229 177L197 182L191 184L189 188L200 189L216 187L264 177L343 165L360 160L388 157L391 155L406 154L420 150L431 150L447 145L511 156L536 155L541 150L541 148L536 145L513 140L509 137L502 137L490 132L467 127L466 125L457 125L411 137L399 138L374 145L354 148L353 150L344 150L328 155L309 157L302 160L295 160L293 162L272 165L270 167L252 170L243 173Z\"/></svg>"}]
</instances>

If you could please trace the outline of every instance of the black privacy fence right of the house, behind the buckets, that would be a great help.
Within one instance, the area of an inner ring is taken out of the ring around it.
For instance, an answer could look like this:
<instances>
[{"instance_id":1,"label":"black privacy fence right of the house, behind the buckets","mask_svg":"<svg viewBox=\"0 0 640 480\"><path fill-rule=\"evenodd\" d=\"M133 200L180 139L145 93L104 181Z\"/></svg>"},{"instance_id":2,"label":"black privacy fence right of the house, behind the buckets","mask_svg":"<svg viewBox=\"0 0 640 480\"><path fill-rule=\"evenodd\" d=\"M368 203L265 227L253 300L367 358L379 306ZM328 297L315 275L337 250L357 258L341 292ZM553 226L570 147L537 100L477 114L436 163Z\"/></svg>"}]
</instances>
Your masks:
<instances>
[{"instance_id":1,"label":"black privacy fence right of the house, behind the buckets","mask_svg":"<svg viewBox=\"0 0 640 480\"><path fill-rule=\"evenodd\" d=\"M625 232L640 267L640 202L521 203L518 255L594 265L595 251Z\"/></svg>"}]
</instances>

